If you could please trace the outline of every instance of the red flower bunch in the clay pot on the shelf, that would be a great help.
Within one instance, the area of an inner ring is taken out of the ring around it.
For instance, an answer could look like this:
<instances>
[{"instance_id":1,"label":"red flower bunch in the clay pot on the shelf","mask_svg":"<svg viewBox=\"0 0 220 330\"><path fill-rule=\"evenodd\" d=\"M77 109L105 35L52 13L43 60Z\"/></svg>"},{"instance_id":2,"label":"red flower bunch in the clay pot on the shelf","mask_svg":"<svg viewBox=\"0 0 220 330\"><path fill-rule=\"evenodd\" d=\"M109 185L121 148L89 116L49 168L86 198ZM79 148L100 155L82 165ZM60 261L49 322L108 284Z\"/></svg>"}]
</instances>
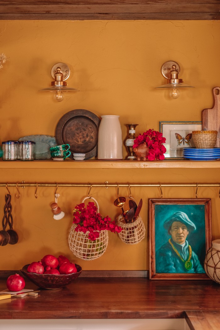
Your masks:
<instances>
[{"instance_id":1,"label":"red flower bunch in the clay pot on the shelf","mask_svg":"<svg viewBox=\"0 0 220 330\"><path fill-rule=\"evenodd\" d=\"M143 134L139 134L134 140L133 148L137 148L141 143L145 142L149 148L149 153L146 157L149 160L163 160L164 153L167 149L164 147L163 143L166 142L166 138L162 136L162 133L149 129Z\"/></svg>"}]
</instances>

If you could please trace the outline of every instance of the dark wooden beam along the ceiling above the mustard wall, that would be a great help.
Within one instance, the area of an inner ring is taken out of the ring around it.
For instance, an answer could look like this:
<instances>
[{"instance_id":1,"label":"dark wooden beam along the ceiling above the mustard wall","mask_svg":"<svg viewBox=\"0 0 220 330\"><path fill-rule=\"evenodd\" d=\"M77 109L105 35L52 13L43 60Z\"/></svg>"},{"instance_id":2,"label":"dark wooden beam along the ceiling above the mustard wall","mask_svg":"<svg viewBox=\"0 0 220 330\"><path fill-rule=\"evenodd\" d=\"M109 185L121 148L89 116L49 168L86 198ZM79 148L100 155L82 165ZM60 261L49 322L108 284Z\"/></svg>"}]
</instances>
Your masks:
<instances>
[{"instance_id":1,"label":"dark wooden beam along the ceiling above the mustard wall","mask_svg":"<svg viewBox=\"0 0 220 330\"><path fill-rule=\"evenodd\" d=\"M219 0L1 0L0 19L218 20Z\"/></svg>"}]
</instances>

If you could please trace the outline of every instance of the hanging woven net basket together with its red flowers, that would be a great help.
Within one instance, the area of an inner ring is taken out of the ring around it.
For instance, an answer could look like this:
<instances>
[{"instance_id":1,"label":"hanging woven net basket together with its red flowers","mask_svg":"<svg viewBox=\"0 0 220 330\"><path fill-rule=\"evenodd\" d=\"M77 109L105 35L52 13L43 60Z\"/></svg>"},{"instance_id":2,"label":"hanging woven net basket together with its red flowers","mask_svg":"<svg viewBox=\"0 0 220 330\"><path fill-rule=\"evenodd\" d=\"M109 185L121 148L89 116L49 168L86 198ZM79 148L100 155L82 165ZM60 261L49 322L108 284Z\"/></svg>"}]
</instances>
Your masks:
<instances>
[{"instance_id":1,"label":"hanging woven net basket together with its red flowers","mask_svg":"<svg viewBox=\"0 0 220 330\"><path fill-rule=\"evenodd\" d=\"M86 199L93 199L85 207ZM111 221L109 216L103 217L99 213L99 205L95 198L86 197L74 209L74 218L69 233L69 247L76 257L84 260L94 260L106 251L108 246L108 230L120 232L121 228Z\"/></svg>"}]
</instances>

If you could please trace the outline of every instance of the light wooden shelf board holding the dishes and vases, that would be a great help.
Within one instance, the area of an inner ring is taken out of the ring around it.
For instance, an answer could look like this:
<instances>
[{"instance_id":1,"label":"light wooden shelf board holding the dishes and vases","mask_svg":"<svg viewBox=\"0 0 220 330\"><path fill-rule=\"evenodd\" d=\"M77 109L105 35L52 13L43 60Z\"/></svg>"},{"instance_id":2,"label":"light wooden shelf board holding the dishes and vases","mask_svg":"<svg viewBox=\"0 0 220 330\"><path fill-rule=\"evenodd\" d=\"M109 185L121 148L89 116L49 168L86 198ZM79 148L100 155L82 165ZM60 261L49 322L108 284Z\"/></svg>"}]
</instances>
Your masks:
<instances>
[{"instance_id":1,"label":"light wooden shelf board holding the dishes and vases","mask_svg":"<svg viewBox=\"0 0 220 330\"><path fill-rule=\"evenodd\" d=\"M163 161L53 161L53 160L34 160L34 161L0 161L0 169L208 169L219 168L220 161L189 161L189 160L163 160Z\"/></svg>"}]
</instances>

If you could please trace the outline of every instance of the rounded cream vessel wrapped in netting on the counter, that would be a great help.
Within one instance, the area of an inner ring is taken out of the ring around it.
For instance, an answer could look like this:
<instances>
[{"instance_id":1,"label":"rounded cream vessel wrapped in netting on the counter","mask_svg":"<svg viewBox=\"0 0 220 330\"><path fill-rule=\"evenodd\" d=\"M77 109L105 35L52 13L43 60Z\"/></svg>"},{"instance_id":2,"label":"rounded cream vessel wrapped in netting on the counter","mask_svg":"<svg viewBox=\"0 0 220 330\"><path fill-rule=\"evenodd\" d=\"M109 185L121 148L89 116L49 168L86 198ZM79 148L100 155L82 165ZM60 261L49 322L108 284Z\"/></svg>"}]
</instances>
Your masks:
<instances>
[{"instance_id":1,"label":"rounded cream vessel wrapped in netting on the counter","mask_svg":"<svg viewBox=\"0 0 220 330\"><path fill-rule=\"evenodd\" d=\"M220 240L212 241L205 256L204 270L211 280L220 283Z\"/></svg>"}]
</instances>

